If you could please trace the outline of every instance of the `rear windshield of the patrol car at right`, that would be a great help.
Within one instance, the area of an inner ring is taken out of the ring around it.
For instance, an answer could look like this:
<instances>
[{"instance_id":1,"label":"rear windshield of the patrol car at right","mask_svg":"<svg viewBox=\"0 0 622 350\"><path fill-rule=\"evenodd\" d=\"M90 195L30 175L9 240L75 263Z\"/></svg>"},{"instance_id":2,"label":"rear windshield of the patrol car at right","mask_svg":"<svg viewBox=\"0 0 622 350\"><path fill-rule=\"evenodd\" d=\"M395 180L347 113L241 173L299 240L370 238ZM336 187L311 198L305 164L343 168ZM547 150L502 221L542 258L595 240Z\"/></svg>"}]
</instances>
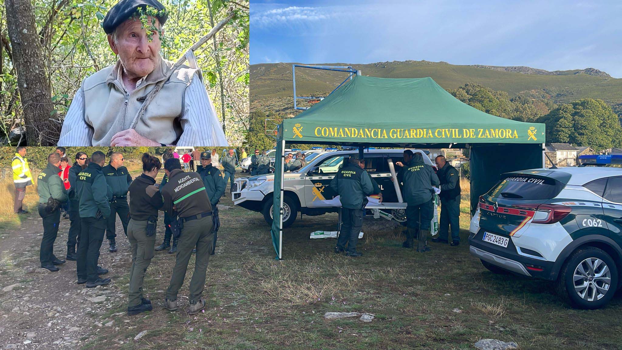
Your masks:
<instances>
[{"instance_id":1,"label":"rear windshield of the patrol car at right","mask_svg":"<svg viewBox=\"0 0 622 350\"><path fill-rule=\"evenodd\" d=\"M564 188L564 184L550 177L511 174L505 176L488 192L488 196L518 199L551 199Z\"/></svg>"}]
</instances>

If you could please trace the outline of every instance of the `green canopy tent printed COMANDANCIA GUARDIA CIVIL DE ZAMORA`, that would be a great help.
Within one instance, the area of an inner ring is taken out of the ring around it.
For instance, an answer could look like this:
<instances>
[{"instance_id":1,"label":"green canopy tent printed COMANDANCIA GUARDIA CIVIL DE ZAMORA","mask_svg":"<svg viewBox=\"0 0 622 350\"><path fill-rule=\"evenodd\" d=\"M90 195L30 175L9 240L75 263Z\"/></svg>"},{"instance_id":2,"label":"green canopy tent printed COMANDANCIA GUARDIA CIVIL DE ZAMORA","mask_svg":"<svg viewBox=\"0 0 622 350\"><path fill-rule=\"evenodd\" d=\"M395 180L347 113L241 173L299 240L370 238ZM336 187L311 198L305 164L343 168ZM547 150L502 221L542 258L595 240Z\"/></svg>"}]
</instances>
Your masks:
<instances>
[{"instance_id":1,"label":"green canopy tent printed COMANDANCIA GUARDIA CIVIL DE ZAMORA","mask_svg":"<svg viewBox=\"0 0 622 350\"><path fill-rule=\"evenodd\" d=\"M471 214L507 171L544 165L544 124L508 120L460 102L432 78L356 76L277 132L272 242L282 258L286 143L364 147L470 148Z\"/></svg>"}]
</instances>

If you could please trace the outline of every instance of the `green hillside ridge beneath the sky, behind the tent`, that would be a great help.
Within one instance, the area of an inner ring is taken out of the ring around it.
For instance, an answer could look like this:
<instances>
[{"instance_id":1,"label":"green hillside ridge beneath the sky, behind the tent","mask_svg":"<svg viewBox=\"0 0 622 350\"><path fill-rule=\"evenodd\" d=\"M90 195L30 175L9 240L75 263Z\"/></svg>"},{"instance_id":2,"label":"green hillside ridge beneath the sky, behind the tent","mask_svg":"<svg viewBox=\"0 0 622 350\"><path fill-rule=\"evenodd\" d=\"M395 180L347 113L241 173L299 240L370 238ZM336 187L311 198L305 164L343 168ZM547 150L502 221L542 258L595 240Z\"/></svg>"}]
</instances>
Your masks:
<instances>
[{"instance_id":1,"label":"green hillside ridge beneath the sky, behind the tent","mask_svg":"<svg viewBox=\"0 0 622 350\"><path fill-rule=\"evenodd\" d=\"M529 67L452 65L428 61L378 62L354 64L352 67L372 77L432 77L446 89L478 83L507 92L510 97L550 98L555 103L600 98L613 106L616 113L622 111L622 79L611 78L595 69L547 72ZM296 70L297 94L326 95L345 77L345 73ZM250 78L251 110L293 111L291 63L251 65Z\"/></svg>"}]
</instances>

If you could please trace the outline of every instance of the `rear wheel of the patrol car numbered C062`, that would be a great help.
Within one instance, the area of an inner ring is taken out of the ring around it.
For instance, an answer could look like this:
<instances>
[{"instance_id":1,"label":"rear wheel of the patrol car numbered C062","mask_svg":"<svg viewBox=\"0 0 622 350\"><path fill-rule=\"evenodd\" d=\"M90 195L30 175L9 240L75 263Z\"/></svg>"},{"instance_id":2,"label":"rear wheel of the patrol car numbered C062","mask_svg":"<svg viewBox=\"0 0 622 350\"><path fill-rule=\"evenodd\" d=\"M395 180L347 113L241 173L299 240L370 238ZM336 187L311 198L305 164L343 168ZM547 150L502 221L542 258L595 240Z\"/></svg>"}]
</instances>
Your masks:
<instances>
[{"instance_id":1,"label":"rear wheel of the patrol car numbered C062","mask_svg":"<svg viewBox=\"0 0 622 350\"><path fill-rule=\"evenodd\" d=\"M618 267L595 247L580 248L564 263L557 291L573 308L594 310L607 305L618 288Z\"/></svg>"}]
</instances>

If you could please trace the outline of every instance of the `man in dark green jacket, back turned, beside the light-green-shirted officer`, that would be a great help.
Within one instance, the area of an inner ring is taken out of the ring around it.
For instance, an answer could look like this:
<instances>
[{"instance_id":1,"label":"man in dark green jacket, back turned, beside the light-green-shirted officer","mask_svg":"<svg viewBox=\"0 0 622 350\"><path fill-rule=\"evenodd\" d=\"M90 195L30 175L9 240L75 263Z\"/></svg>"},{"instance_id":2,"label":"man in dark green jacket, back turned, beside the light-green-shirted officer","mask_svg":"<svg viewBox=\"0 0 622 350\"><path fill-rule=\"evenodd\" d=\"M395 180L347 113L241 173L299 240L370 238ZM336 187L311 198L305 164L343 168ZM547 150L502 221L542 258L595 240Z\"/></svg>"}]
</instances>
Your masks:
<instances>
[{"instance_id":1,"label":"man in dark green jacket, back turned, beside the light-green-shirted officer","mask_svg":"<svg viewBox=\"0 0 622 350\"><path fill-rule=\"evenodd\" d=\"M110 278L99 277L108 273L108 270L97 266L106 219L110 216L109 200L112 198L112 191L101 171L105 161L106 155L95 151L91 155L91 162L78 173L76 180L81 230L76 267L78 284L86 283L87 288L110 283Z\"/></svg>"}]
</instances>

